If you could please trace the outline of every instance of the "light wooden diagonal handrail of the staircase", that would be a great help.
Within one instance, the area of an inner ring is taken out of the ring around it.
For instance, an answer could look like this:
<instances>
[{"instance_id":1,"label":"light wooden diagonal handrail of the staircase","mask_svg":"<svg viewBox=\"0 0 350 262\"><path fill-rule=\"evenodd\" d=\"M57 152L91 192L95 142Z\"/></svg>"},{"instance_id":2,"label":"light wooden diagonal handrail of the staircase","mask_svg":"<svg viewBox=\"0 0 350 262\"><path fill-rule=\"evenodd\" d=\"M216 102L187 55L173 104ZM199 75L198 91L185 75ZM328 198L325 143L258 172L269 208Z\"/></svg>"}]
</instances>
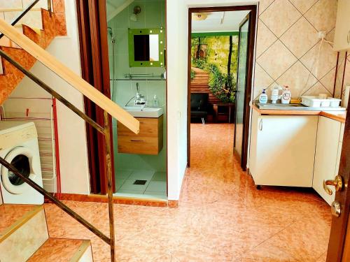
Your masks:
<instances>
[{"instance_id":1,"label":"light wooden diagonal handrail of the staircase","mask_svg":"<svg viewBox=\"0 0 350 262\"><path fill-rule=\"evenodd\" d=\"M99 105L99 107L108 112L109 115L127 126L128 129L134 133L139 133L139 121L136 118L132 117L129 112L120 108L119 105L92 87L92 85L71 71L67 66L64 66L64 64L58 61L56 57L52 56L52 54L43 50L43 48L38 46L34 41L31 41L31 39L21 34L2 19L0 19L0 31L11 41L19 45L23 50L31 54L36 60L41 61L44 66L48 67L52 72L56 73L60 78L72 85L81 94Z\"/></svg>"}]
</instances>

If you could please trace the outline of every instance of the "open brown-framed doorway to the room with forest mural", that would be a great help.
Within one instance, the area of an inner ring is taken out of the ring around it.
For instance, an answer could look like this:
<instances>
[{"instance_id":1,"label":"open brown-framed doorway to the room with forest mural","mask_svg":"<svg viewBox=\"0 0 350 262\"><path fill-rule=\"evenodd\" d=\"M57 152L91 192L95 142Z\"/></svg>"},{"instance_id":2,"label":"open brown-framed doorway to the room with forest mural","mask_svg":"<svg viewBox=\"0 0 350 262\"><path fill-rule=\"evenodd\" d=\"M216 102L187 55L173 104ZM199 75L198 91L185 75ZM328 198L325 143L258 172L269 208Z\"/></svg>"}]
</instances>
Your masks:
<instances>
[{"instance_id":1,"label":"open brown-framed doorway to the room with forest mural","mask_svg":"<svg viewBox=\"0 0 350 262\"><path fill-rule=\"evenodd\" d=\"M191 132L222 130L246 170L256 6L190 8L188 17L188 166Z\"/></svg>"}]
</instances>

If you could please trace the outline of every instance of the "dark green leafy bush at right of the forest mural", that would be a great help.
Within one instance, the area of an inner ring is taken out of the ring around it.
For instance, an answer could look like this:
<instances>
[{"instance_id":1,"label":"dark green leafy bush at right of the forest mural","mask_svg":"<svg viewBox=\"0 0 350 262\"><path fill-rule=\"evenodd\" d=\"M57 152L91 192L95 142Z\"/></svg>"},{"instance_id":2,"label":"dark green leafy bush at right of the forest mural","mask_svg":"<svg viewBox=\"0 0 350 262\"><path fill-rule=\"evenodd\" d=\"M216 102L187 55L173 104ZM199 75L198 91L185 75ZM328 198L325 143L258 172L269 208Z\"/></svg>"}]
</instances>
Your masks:
<instances>
[{"instance_id":1,"label":"dark green leafy bush at right of the forest mural","mask_svg":"<svg viewBox=\"0 0 350 262\"><path fill-rule=\"evenodd\" d=\"M209 89L222 102L233 103L235 101L236 82L232 73L221 73L215 65L210 65Z\"/></svg>"}]
</instances>

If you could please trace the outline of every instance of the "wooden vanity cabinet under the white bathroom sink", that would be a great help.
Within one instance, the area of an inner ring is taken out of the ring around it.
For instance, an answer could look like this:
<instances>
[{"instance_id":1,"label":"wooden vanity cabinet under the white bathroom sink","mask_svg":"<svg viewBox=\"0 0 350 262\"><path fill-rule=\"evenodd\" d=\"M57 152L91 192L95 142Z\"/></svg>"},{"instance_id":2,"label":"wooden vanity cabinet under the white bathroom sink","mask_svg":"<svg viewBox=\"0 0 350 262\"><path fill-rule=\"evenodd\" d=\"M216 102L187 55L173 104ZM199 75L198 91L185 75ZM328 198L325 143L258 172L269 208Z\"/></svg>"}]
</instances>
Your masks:
<instances>
[{"instance_id":1,"label":"wooden vanity cabinet under the white bathroom sink","mask_svg":"<svg viewBox=\"0 0 350 262\"><path fill-rule=\"evenodd\" d=\"M118 122L118 153L159 154L163 148L163 115L158 118L136 118L140 122L137 135Z\"/></svg>"}]
</instances>

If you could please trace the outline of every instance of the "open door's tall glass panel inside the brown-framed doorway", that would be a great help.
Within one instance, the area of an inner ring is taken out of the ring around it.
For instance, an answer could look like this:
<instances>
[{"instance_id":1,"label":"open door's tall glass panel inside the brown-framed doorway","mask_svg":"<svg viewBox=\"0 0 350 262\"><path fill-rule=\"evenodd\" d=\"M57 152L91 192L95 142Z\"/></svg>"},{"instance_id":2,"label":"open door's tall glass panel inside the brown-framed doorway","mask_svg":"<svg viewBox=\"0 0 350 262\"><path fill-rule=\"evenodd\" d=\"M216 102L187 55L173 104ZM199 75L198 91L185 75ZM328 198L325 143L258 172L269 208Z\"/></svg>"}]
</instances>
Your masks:
<instances>
[{"instance_id":1,"label":"open door's tall glass panel inside the brown-framed doorway","mask_svg":"<svg viewBox=\"0 0 350 262\"><path fill-rule=\"evenodd\" d=\"M241 159L243 145L244 97L248 68L249 16L239 26L239 54L237 70L236 117L235 117L235 153Z\"/></svg>"}]
</instances>

